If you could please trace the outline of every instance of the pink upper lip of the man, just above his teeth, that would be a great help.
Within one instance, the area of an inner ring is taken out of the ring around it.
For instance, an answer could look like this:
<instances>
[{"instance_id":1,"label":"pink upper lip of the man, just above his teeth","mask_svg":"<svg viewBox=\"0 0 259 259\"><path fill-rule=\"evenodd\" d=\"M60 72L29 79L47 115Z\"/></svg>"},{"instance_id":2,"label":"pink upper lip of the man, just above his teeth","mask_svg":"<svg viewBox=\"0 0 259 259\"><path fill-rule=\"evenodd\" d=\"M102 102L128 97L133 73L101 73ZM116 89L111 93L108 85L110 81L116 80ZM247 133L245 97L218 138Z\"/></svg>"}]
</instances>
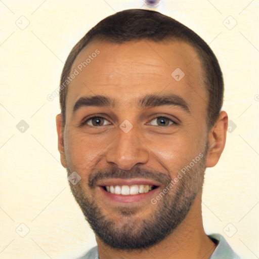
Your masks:
<instances>
[{"instance_id":1,"label":"pink upper lip of the man, just above his teeth","mask_svg":"<svg viewBox=\"0 0 259 259\"><path fill-rule=\"evenodd\" d=\"M98 186L116 186L116 185L152 185L160 186L160 184L152 179L132 178L132 179L105 179L98 183Z\"/></svg>"}]
</instances>

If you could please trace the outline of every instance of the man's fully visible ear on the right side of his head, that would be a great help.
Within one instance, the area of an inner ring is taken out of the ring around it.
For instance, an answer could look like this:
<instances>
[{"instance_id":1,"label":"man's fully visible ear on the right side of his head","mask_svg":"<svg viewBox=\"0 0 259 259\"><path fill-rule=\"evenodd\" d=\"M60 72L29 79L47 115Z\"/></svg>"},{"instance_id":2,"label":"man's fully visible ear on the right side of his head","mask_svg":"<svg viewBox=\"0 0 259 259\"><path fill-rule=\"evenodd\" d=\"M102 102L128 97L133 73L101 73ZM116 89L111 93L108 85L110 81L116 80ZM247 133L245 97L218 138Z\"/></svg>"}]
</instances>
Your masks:
<instances>
[{"instance_id":1,"label":"man's fully visible ear on the right side of his head","mask_svg":"<svg viewBox=\"0 0 259 259\"><path fill-rule=\"evenodd\" d=\"M206 167L215 166L225 148L228 130L228 114L221 111L218 120L211 128L208 135L209 151L207 154Z\"/></svg>"}]
</instances>

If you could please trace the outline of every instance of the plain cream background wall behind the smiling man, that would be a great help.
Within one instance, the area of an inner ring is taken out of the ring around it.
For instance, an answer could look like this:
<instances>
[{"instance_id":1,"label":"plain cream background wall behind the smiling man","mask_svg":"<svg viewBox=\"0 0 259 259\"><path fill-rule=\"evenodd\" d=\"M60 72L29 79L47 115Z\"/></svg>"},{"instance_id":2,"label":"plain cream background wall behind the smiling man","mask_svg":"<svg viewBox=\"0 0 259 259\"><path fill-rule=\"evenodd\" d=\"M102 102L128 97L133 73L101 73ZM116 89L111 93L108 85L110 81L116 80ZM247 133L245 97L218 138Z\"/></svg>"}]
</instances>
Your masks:
<instances>
[{"instance_id":1,"label":"plain cream background wall behind the smiling man","mask_svg":"<svg viewBox=\"0 0 259 259\"><path fill-rule=\"evenodd\" d=\"M59 99L47 95L74 44L104 17L129 8L148 9L140 0L0 1L0 258L73 258L96 244L59 161ZM154 10L196 31L219 59L224 109L237 127L206 171L204 227L244 258L259 258L259 2L164 0ZM24 133L16 127L21 120L29 125Z\"/></svg>"}]
</instances>

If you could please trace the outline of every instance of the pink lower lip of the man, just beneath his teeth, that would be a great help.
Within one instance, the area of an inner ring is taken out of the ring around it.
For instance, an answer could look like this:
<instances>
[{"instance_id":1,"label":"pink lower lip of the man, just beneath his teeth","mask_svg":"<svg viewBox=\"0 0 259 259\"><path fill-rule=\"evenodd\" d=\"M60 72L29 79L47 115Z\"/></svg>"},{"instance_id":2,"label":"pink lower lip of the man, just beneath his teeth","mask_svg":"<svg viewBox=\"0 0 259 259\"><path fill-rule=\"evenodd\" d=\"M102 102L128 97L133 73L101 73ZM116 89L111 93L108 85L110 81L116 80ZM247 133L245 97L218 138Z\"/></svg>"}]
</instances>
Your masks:
<instances>
[{"instance_id":1,"label":"pink lower lip of the man, just beneath his teeth","mask_svg":"<svg viewBox=\"0 0 259 259\"><path fill-rule=\"evenodd\" d=\"M132 203L132 202L138 202L138 201L143 201L147 199L151 199L154 197L154 193L159 189L153 189L149 192L146 193L139 193L139 194L134 194L134 195L122 195L122 194L115 194L115 193L110 193L106 192L102 187L98 187L101 193L105 195L108 199L116 202L124 202L124 203Z\"/></svg>"}]
</instances>

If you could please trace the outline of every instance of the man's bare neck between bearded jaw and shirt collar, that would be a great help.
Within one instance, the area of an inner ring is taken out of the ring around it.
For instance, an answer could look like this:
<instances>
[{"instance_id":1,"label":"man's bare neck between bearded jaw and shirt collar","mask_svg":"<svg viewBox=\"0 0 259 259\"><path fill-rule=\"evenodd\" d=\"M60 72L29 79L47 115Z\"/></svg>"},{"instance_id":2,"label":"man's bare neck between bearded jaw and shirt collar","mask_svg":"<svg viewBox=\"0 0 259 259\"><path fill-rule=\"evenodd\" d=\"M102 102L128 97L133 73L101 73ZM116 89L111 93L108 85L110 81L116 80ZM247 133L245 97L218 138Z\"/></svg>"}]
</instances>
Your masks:
<instances>
[{"instance_id":1,"label":"man's bare neck between bearded jaw and shirt collar","mask_svg":"<svg viewBox=\"0 0 259 259\"><path fill-rule=\"evenodd\" d=\"M215 245L206 235L202 224L201 193L199 193L183 222L158 244L141 250L112 248L96 237L100 259L208 259Z\"/></svg>"}]
</instances>

